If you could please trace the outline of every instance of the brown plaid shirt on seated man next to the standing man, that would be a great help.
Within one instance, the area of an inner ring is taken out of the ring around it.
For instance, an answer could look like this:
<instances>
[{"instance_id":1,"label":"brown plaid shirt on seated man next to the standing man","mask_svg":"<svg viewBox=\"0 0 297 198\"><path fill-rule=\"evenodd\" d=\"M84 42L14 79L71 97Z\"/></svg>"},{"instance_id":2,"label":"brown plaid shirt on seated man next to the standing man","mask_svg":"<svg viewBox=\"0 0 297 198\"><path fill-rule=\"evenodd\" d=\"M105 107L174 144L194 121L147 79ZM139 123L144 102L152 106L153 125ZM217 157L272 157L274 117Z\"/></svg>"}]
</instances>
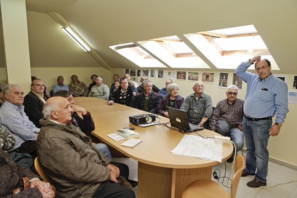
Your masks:
<instances>
[{"instance_id":1,"label":"brown plaid shirt on seated man next to the standing man","mask_svg":"<svg viewBox=\"0 0 297 198\"><path fill-rule=\"evenodd\" d=\"M209 120L210 130L214 130L219 118L225 120L230 128L237 128L239 124L242 126L243 105L244 101L238 98L232 104L229 104L227 98L218 102L212 118Z\"/></svg>"}]
</instances>

